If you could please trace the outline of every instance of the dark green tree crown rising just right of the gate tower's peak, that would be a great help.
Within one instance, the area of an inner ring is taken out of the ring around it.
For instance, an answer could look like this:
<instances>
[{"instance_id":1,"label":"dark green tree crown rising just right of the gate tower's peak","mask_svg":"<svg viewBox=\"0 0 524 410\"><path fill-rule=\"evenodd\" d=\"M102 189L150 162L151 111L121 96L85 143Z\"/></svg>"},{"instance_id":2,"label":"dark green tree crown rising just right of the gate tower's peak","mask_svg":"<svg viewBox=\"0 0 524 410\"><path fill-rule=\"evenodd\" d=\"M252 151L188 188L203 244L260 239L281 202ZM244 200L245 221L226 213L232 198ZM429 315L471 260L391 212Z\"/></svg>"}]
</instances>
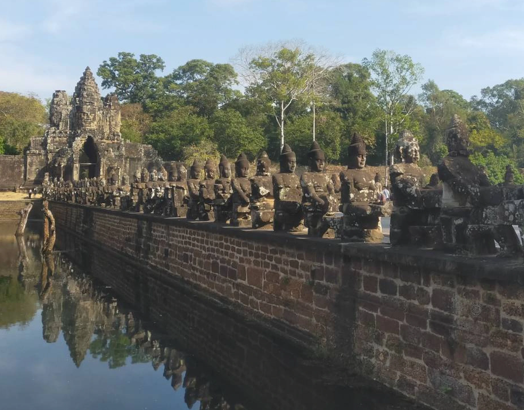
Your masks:
<instances>
[{"instance_id":1,"label":"dark green tree crown rising just right of the gate tower's peak","mask_svg":"<svg viewBox=\"0 0 524 410\"><path fill-rule=\"evenodd\" d=\"M145 103L154 98L160 88L157 71L163 71L164 61L155 54L119 52L100 64L96 75L102 78L102 88L114 88L121 102Z\"/></svg>"}]
</instances>

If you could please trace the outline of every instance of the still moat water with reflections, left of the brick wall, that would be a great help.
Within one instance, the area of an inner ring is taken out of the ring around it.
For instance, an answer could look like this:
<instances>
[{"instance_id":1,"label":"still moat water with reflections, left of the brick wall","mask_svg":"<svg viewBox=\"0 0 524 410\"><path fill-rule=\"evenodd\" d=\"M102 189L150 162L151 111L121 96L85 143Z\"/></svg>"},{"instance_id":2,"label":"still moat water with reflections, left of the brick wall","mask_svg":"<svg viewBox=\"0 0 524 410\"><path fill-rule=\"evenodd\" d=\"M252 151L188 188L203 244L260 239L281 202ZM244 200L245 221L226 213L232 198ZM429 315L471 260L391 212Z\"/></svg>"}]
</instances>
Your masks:
<instances>
[{"instance_id":1,"label":"still moat water with reflections, left of the brick wall","mask_svg":"<svg viewBox=\"0 0 524 410\"><path fill-rule=\"evenodd\" d=\"M41 223L15 229L0 224L3 410L419 408L175 287L155 300L78 239L42 258Z\"/></svg>"}]
</instances>

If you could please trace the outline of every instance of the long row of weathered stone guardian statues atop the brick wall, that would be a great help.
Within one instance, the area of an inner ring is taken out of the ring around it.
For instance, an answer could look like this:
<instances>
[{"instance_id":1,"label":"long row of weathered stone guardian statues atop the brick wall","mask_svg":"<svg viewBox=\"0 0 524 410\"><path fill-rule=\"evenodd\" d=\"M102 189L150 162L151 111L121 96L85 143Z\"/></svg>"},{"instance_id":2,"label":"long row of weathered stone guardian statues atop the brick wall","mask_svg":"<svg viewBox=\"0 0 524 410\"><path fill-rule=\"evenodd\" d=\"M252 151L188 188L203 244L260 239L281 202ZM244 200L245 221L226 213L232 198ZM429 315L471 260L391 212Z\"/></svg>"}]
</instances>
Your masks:
<instances>
[{"instance_id":1,"label":"long row of weathered stone guardian statues atop the brick wall","mask_svg":"<svg viewBox=\"0 0 524 410\"><path fill-rule=\"evenodd\" d=\"M240 154L234 178L227 158L222 156L219 178L211 160L203 167L195 160L189 179L180 165L176 181L162 167L159 172L137 170L131 184L125 178L121 185L95 179L74 186L58 182L58 186L50 187L54 185L51 183L47 190L55 200L256 229L301 231L307 227L310 236L354 242L383 241L380 218L391 215L390 242L394 246L471 253L521 252L524 192L522 186L512 183L511 169L507 170L505 184L489 186L485 170L468 158L468 132L458 116L453 117L446 137L449 155L425 185L417 164L418 141L408 130L400 133L396 147L399 162L389 169L392 203L381 200L381 184L365 169L366 145L358 134L353 135L348 147L347 169L340 174L324 172L324 153L313 142L308 152L309 171L300 177L294 173L296 156L284 145L280 172L274 175L263 152L251 178L249 161ZM202 168L205 178L200 180Z\"/></svg>"}]
</instances>

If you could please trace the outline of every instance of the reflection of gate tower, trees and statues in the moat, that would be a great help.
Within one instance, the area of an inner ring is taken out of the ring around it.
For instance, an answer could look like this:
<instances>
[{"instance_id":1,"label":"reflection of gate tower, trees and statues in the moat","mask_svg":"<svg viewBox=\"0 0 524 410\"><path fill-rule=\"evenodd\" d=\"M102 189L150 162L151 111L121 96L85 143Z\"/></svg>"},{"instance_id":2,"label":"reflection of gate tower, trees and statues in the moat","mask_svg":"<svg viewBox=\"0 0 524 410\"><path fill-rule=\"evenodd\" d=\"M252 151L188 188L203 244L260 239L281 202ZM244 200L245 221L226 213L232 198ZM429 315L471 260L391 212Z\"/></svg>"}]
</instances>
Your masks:
<instances>
[{"instance_id":1,"label":"reflection of gate tower, trees and statues in the moat","mask_svg":"<svg viewBox=\"0 0 524 410\"><path fill-rule=\"evenodd\" d=\"M163 365L162 375L173 390L183 386L188 408L196 402L200 402L200 410L244 408L226 400L209 371L192 356L174 349L169 341L155 338L106 288L95 285L88 275L73 272L71 263L63 257L57 256L54 264L54 269L50 269L48 261L35 286L42 295L43 339L57 341L61 329L77 367L88 349L93 358L107 362L110 369L151 362L155 371Z\"/></svg>"}]
</instances>

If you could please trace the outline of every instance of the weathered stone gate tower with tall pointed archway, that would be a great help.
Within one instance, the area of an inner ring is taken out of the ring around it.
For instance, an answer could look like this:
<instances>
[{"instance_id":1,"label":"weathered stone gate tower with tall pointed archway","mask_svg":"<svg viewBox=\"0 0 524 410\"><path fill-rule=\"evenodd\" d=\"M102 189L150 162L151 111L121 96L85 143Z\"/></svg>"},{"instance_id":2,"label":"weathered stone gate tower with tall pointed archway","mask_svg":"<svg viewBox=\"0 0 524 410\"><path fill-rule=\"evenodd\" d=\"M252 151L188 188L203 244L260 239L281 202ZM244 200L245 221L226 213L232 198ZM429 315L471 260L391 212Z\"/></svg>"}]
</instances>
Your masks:
<instances>
[{"instance_id":1,"label":"weathered stone gate tower with tall pointed archway","mask_svg":"<svg viewBox=\"0 0 524 410\"><path fill-rule=\"evenodd\" d=\"M115 95L102 98L93 72L87 67L73 96L53 93L49 126L32 137L26 150L26 185L40 184L43 175L77 181L88 177L120 179L135 169L156 167L158 153L149 145L123 141L120 104Z\"/></svg>"}]
</instances>

